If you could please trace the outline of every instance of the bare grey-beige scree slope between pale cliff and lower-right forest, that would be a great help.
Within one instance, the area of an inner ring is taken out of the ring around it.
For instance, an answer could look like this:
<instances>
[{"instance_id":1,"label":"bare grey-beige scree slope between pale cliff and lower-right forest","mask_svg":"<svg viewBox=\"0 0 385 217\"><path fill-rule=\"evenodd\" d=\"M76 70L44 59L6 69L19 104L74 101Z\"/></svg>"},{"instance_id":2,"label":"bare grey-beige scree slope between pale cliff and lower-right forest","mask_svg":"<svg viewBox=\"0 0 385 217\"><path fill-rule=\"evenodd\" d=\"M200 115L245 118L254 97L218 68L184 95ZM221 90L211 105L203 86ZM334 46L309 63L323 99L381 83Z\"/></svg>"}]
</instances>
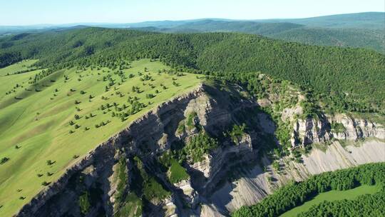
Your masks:
<instances>
[{"instance_id":1,"label":"bare grey-beige scree slope between pale cliff and lower-right forest","mask_svg":"<svg viewBox=\"0 0 385 217\"><path fill-rule=\"evenodd\" d=\"M271 163L267 159L262 161L261 165L242 171L242 176L236 181L227 181L212 193L212 206L215 206L216 215L231 213L241 206L258 203L290 180L302 181L318 173L364 163L384 162L385 142L371 139L364 141L361 146L343 147L338 141L335 141L326 151L314 148L309 155L302 156L302 158L303 163L295 163L289 161L288 158L282 159L282 168L279 172L272 169ZM265 167L265 171L262 167ZM206 216L211 216L211 213Z\"/></svg>"}]
</instances>

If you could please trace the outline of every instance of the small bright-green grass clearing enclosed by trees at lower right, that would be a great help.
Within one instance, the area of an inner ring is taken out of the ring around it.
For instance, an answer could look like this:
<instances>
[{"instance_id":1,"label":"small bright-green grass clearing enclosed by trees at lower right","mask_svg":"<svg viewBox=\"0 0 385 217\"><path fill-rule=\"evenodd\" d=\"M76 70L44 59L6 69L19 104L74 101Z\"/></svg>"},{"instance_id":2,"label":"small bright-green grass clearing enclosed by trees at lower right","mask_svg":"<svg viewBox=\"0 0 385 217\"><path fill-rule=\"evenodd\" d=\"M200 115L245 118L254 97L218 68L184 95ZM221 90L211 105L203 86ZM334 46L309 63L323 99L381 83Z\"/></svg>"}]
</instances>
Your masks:
<instances>
[{"instance_id":1,"label":"small bright-green grass clearing enclosed by trees at lower right","mask_svg":"<svg viewBox=\"0 0 385 217\"><path fill-rule=\"evenodd\" d=\"M310 207L322 203L322 201L340 201L340 200L353 200L358 196L364 194L376 193L381 189L381 186L359 186L347 191L327 191L315 196L311 201L307 201L302 206L292 208L290 211L283 213L281 217L297 216L299 213L308 211Z\"/></svg>"}]
</instances>

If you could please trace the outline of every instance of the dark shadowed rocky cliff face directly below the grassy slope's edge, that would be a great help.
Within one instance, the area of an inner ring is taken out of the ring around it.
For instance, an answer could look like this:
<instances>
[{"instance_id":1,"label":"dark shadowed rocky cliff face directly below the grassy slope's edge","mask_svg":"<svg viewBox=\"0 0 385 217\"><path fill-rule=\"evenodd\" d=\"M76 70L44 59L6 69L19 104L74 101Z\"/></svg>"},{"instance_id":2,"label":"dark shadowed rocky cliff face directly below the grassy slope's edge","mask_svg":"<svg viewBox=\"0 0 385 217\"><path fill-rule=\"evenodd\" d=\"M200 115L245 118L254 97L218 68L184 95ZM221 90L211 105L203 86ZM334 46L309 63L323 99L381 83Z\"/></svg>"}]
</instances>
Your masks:
<instances>
[{"instance_id":1,"label":"dark shadowed rocky cliff face directly below the grassy slope's edge","mask_svg":"<svg viewBox=\"0 0 385 217\"><path fill-rule=\"evenodd\" d=\"M128 195L130 186L140 182L135 179L134 172L138 168L134 168L133 157L140 158L143 162L141 169L170 193L166 198L146 201L143 216L199 216L201 208L198 203L204 200L200 195L204 195L206 189L215 186L220 177L225 175L229 156L252 153L252 139L255 138L245 133L239 144L222 141L220 147L206 153L199 163L185 163L190 178L180 183L168 181L166 174L160 171L157 159L170 150L173 143L188 141L199 131L221 136L232 124L240 121L234 111L257 106L252 101L230 101L227 97L230 97L230 93L221 93L210 86L201 85L145 113L68 168L58 181L33 198L17 216L84 216L79 207L79 198L85 192L94 194L90 196L91 207L86 211L86 216L116 215L122 206L117 202L118 194L123 192L123 195ZM186 127L183 132L177 133L178 125L190 113L196 113L193 120L196 126ZM121 161L126 164L124 168L120 168ZM128 173L123 191L118 189L121 170Z\"/></svg>"}]
</instances>

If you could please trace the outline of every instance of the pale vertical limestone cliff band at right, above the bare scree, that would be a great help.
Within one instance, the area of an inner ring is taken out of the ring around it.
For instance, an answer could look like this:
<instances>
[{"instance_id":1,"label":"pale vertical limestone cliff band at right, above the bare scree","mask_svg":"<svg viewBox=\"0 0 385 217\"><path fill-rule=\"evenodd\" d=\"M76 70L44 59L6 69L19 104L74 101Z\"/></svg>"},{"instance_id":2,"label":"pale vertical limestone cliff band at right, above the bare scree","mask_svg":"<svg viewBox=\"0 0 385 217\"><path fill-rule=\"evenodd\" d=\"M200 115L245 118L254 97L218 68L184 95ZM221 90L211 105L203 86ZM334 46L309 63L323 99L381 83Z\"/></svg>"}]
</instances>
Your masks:
<instances>
[{"instance_id":1,"label":"pale vertical limestone cliff band at right, above the bare scree","mask_svg":"<svg viewBox=\"0 0 385 217\"><path fill-rule=\"evenodd\" d=\"M385 138L385 128L381 124L346 114L300 119L293 128L292 146L324 143L332 138L353 141L358 138Z\"/></svg>"}]
</instances>

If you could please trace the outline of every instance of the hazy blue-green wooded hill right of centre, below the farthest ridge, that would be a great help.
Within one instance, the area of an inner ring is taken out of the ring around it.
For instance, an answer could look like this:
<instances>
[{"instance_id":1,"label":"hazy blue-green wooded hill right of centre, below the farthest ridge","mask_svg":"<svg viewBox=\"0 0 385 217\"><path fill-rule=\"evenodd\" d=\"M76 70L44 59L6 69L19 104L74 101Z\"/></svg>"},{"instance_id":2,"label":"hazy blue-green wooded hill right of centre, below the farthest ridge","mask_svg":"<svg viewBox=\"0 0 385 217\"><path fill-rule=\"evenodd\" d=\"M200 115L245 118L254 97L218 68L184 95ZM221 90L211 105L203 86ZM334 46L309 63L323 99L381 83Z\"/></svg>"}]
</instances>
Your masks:
<instances>
[{"instance_id":1,"label":"hazy blue-green wooded hill right of centre, below the farthest ridge","mask_svg":"<svg viewBox=\"0 0 385 217\"><path fill-rule=\"evenodd\" d=\"M257 21L216 21L203 20L173 26L171 28L148 27L140 28L148 31L167 33L197 32L240 32L260 34L272 39L299 42L309 45L343 46L372 49L385 52L383 29L337 29L318 26L304 26L288 22L257 22Z\"/></svg>"}]
</instances>

